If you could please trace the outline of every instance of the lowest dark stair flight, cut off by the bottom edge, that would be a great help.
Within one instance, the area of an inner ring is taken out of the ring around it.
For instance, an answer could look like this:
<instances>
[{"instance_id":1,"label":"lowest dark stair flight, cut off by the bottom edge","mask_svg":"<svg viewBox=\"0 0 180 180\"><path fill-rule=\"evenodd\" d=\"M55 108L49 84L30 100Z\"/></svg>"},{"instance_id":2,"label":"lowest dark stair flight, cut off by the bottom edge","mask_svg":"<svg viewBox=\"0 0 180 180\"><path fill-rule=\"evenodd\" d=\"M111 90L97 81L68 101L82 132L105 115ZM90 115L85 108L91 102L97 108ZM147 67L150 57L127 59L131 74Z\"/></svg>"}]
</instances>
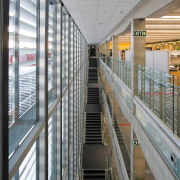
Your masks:
<instances>
[{"instance_id":1,"label":"lowest dark stair flight, cut off by the bottom edge","mask_svg":"<svg viewBox=\"0 0 180 180\"><path fill-rule=\"evenodd\" d=\"M105 179L104 169L85 169L84 170L84 180L101 180Z\"/></svg>"}]
</instances>

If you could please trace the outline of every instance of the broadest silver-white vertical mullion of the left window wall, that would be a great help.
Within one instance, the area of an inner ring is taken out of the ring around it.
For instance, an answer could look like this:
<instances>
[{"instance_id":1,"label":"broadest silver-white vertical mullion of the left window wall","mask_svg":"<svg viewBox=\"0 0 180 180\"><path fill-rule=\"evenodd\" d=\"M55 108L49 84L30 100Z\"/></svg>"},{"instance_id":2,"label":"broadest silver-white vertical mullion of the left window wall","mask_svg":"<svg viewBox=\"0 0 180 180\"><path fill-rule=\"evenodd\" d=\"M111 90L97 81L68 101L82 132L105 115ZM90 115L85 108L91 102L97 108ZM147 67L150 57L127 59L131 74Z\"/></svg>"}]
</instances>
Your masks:
<instances>
[{"instance_id":1,"label":"broadest silver-white vertical mullion of the left window wall","mask_svg":"<svg viewBox=\"0 0 180 180\"><path fill-rule=\"evenodd\" d=\"M48 0L42 0L39 23L39 118L46 121L46 126L39 137L39 179L45 180L48 179L48 13Z\"/></svg>"}]
</instances>

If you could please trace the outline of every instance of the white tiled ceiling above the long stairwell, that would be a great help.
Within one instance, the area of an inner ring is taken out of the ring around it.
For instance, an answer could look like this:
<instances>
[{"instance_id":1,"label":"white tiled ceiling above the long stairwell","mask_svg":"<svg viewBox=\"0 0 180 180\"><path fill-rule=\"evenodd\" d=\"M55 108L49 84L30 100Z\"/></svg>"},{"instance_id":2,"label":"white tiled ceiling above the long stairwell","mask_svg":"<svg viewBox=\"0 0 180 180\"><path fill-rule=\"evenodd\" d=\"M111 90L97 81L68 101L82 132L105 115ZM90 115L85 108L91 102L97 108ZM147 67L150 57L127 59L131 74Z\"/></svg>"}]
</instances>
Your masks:
<instances>
[{"instance_id":1,"label":"white tiled ceiling above the long stairwell","mask_svg":"<svg viewBox=\"0 0 180 180\"><path fill-rule=\"evenodd\" d=\"M62 0L89 44L97 44L140 0Z\"/></svg>"}]
</instances>

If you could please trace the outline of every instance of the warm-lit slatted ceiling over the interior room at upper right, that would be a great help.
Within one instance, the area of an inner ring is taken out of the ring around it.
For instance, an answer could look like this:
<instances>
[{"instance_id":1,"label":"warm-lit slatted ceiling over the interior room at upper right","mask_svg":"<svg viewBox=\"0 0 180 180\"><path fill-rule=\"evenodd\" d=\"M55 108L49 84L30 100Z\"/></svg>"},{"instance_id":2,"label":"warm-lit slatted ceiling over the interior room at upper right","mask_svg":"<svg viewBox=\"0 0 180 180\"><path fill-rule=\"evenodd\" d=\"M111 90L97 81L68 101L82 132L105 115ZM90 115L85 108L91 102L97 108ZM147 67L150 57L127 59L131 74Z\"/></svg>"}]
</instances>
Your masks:
<instances>
[{"instance_id":1,"label":"warm-lit slatted ceiling over the interior room at upper right","mask_svg":"<svg viewBox=\"0 0 180 180\"><path fill-rule=\"evenodd\" d=\"M180 40L180 9L161 18L146 18L146 43ZM130 43L131 34L119 36L119 42Z\"/></svg>"}]
</instances>

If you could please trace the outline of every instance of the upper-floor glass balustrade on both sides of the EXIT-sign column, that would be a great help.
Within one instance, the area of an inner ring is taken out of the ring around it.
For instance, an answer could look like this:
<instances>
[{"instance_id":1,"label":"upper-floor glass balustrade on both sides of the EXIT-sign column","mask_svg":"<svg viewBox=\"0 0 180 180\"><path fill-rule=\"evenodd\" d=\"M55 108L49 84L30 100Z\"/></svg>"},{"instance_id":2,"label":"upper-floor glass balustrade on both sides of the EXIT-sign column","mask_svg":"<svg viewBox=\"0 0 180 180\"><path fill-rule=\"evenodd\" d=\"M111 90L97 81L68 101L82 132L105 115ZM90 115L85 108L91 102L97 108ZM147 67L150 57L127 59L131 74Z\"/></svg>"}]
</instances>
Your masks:
<instances>
[{"instance_id":1,"label":"upper-floor glass balustrade on both sides of the EXIT-sign column","mask_svg":"<svg viewBox=\"0 0 180 180\"><path fill-rule=\"evenodd\" d=\"M131 89L131 62L111 57L103 57L103 62L111 70L107 72L109 75L116 74ZM118 83L115 81L114 84L122 94ZM180 76L137 65L137 97L180 137ZM130 108L130 98L127 96L125 99Z\"/></svg>"}]
</instances>

